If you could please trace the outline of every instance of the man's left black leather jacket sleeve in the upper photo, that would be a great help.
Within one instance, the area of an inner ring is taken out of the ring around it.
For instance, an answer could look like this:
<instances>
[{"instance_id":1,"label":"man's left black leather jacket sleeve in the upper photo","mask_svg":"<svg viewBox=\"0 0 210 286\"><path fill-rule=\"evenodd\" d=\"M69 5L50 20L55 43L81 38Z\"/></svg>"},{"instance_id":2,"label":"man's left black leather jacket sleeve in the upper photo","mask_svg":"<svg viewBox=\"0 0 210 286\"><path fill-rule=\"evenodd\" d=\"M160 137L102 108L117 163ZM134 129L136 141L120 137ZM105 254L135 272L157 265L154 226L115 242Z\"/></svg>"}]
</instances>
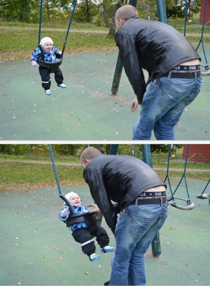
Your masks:
<instances>
[{"instance_id":1,"label":"man's left black leather jacket sleeve in the upper photo","mask_svg":"<svg viewBox=\"0 0 210 286\"><path fill-rule=\"evenodd\" d=\"M132 39L120 31L115 33L115 42L120 51L120 58L125 73L137 96L139 104L141 104L143 94L146 91L146 83L136 45Z\"/></svg>"}]
</instances>

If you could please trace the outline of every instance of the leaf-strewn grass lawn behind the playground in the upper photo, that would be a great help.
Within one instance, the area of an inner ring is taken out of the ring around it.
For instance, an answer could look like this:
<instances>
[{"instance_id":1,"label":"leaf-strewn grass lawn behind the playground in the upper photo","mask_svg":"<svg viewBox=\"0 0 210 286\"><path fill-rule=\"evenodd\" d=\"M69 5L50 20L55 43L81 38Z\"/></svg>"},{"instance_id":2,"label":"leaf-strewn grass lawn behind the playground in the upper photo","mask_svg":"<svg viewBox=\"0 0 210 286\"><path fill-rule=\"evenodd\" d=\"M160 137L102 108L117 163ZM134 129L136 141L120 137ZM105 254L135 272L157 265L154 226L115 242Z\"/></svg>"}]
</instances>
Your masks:
<instances>
[{"instance_id":1,"label":"leaf-strewn grass lawn behind the playground in the upper photo","mask_svg":"<svg viewBox=\"0 0 210 286\"><path fill-rule=\"evenodd\" d=\"M175 20L169 20L168 24L175 27ZM34 48L38 45L39 26L18 23L18 22L1 22L0 31L0 60L14 60L31 57ZM55 25L44 24L41 28L41 38L50 37L60 51L66 38L68 24L64 23ZM184 22L179 20L176 23L176 29L183 33ZM71 32L77 30L78 32ZM81 32L82 30L94 32ZM108 37L107 33L98 33L98 31L108 33L108 28L98 27L91 24L78 24L72 22L67 38L65 54L68 53L85 53L90 51L104 51L118 49L115 45L114 37ZM194 27L187 23L186 33L201 35L202 27ZM210 37L205 34L210 33L210 27L205 27L203 41L210 43ZM199 42L200 36L186 36L189 41Z\"/></svg>"}]
</instances>

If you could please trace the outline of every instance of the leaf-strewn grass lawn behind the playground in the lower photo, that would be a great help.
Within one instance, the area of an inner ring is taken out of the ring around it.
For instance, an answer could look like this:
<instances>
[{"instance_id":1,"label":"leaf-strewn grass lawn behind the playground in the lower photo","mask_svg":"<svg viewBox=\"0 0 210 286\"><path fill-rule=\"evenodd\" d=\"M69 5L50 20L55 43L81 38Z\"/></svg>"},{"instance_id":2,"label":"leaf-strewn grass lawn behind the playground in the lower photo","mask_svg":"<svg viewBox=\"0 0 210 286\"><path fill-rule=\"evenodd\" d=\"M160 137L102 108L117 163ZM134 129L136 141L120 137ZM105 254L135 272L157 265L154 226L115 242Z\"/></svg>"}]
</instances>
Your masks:
<instances>
[{"instance_id":1,"label":"leaf-strewn grass lawn behind the playground in the lower photo","mask_svg":"<svg viewBox=\"0 0 210 286\"><path fill-rule=\"evenodd\" d=\"M158 154L152 155L155 162L157 162ZM30 158L30 160L34 160ZM58 162L80 164L78 157L64 157L57 159L54 157L55 164ZM21 156L0 156L0 191L6 190L20 190L27 188L40 188L57 186L53 164L50 157L39 157L39 162L28 162L29 158ZM161 162L158 164L153 162L154 167L167 167L167 154L162 156ZM49 164L46 164L49 163ZM178 171L169 171L169 176L183 175L184 162L170 161L170 168L177 168ZM181 169L181 170L180 170ZM206 171L188 171L188 169L206 169ZM67 166L56 165L57 175L60 186L84 184L83 169L79 165ZM164 180L166 176L165 170L156 170L157 174ZM203 181L209 180L209 164L188 162L186 170L187 178L195 178Z\"/></svg>"}]
</instances>

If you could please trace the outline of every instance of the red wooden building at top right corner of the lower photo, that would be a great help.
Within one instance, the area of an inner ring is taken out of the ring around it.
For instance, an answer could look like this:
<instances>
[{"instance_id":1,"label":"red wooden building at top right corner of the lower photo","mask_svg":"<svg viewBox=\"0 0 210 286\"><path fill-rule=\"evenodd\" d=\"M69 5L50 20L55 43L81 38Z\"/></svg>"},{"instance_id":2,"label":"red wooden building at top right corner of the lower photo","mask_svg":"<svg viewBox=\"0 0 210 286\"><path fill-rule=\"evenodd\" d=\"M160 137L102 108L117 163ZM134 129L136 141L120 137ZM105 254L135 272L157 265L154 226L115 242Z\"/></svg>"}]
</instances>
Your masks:
<instances>
[{"instance_id":1,"label":"red wooden building at top right corner of the lower photo","mask_svg":"<svg viewBox=\"0 0 210 286\"><path fill-rule=\"evenodd\" d=\"M184 144L182 159L186 159L187 144ZM188 151L189 161L210 163L210 144L190 144Z\"/></svg>"}]
</instances>

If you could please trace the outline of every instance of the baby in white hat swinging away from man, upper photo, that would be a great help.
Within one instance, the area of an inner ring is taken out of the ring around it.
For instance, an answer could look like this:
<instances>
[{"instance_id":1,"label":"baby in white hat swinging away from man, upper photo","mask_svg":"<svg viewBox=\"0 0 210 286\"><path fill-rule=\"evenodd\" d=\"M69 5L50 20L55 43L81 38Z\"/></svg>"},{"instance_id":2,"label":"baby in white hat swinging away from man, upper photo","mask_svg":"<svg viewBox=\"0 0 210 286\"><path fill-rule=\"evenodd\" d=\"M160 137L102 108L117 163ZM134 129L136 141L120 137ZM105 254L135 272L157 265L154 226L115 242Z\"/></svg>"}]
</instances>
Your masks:
<instances>
[{"instance_id":1,"label":"baby in white hat swinging away from man, upper photo","mask_svg":"<svg viewBox=\"0 0 210 286\"><path fill-rule=\"evenodd\" d=\"M56 56L55 53L59 53L60 55L62 52L58 51L57 48L55 48L53 44L53 40L49 37L45 37L41 39L40 45L43 48L44 52L44 60L46 62L55 62L56 61ZM36 67L38 63L36 62L37 59L41 58L41 51L40 48L37 47L34 49L34 52L32 53L31 56L31 64L33 67ZM52 92L50 91L50 85L51 85L51 79L50 79L50 68L49 67L43 67L39 66L39 74L41 76L42 80L42 87L45 90L47 95L51 95ZM55 71L55 81L57 82L57 86L61 87L62 89L66 88L66 85L63 84L63 74L60 68L58 67L57 70Z\"/></svg>"}]
</instances>

